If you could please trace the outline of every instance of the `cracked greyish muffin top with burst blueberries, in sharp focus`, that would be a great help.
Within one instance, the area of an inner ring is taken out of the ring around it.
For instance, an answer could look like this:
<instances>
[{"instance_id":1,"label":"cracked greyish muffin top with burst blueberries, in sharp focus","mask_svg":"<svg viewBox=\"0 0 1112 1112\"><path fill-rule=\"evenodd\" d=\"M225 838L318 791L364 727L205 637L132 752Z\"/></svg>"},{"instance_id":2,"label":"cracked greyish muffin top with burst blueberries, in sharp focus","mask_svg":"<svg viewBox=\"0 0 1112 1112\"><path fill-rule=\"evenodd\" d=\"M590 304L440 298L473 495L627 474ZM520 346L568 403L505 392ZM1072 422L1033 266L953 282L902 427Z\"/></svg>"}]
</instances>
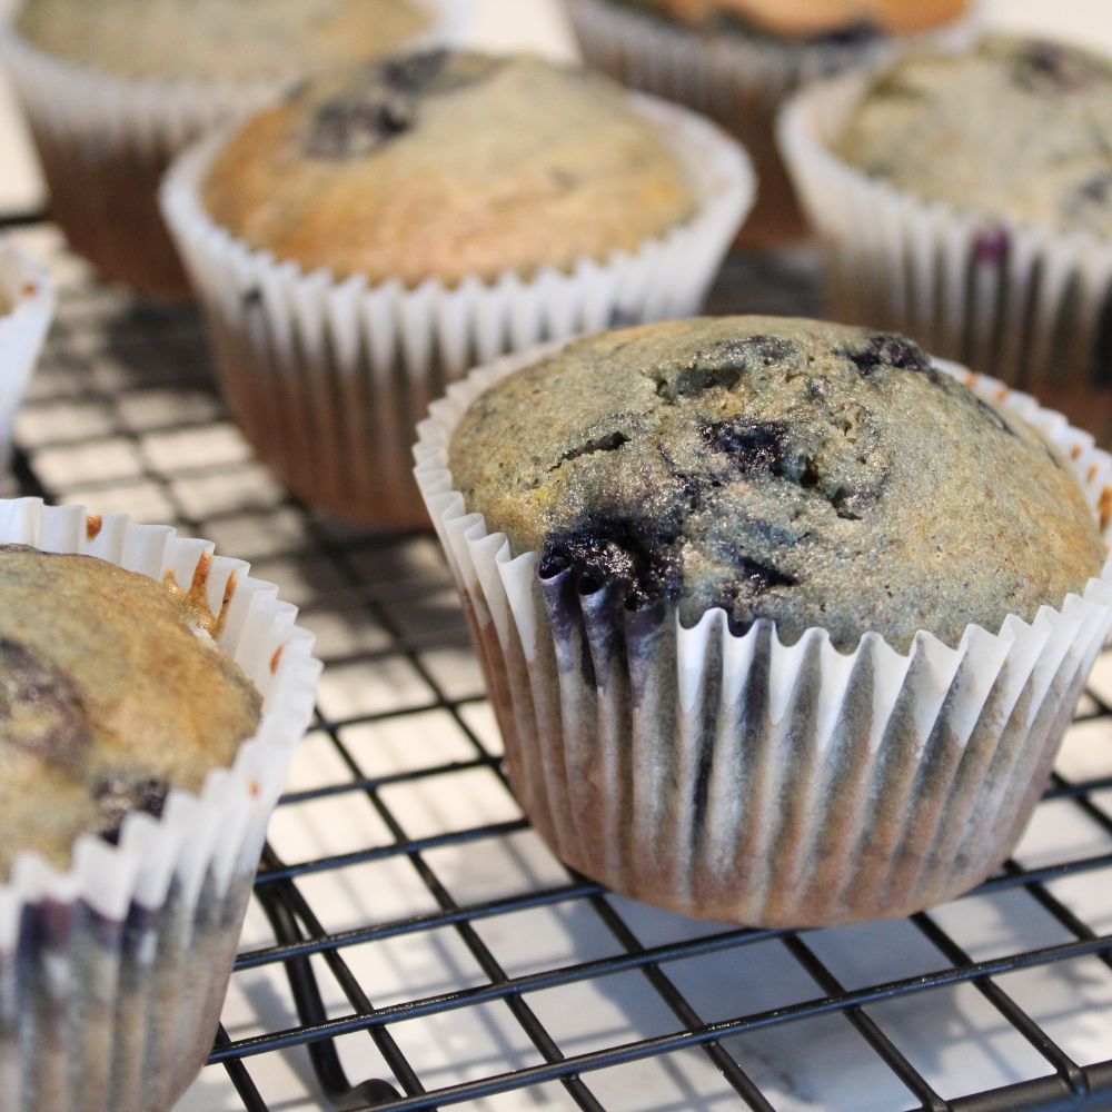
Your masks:
<instances>
[{"instance_id":1,"label":"cracked greyish muffin top with burst blueberries, in sharp focus","mask_svg":"<svg viewBox=\"0 0 1112 1112\"><path fill-rule=\"evenodd\" d=\"M1061 606L1104 560L1066 465L893 334L777 317L579 340L492 387L453 486L539 573L901 652Z\"/></svg>"}]
</instances>

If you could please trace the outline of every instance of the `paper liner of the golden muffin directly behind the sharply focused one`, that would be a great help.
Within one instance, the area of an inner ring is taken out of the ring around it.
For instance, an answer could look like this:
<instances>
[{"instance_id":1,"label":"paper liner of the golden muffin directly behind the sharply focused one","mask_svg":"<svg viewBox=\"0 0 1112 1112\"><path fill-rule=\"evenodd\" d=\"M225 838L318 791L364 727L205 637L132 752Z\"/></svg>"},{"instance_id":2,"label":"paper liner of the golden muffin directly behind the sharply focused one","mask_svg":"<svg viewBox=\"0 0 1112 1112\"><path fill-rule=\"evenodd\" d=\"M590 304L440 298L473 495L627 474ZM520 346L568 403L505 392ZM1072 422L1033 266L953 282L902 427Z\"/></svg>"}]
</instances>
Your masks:
<instances>
[{"instance_id":1,"label":"paper liner of the golden muffin directly behind the sharply focused one","mask_svg":"<svg viewBox=\"0 0 1112 1112\"><path fill-rule=\"evenodd\" d=\"M162 209L206 309L225 396L290 490L348 517L425 524L409 430L448 381L543 340L698 308L752 205L749 162L692 112L639 96L632 103L683 161L696 215L634 252L454 287L338 281L252 250L201 200L225 140L179 159Z\"/></svg>"}]
</instances>

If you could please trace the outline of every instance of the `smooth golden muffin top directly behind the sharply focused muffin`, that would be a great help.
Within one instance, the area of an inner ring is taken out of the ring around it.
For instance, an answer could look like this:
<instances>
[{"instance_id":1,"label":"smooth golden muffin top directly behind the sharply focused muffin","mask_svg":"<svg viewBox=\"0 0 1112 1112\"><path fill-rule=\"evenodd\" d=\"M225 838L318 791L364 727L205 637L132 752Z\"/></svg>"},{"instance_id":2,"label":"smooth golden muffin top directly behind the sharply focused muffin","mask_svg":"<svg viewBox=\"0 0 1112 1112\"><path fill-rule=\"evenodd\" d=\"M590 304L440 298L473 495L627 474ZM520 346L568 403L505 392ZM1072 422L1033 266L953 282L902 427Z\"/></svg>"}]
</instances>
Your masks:
<instances>
[{"instance_id":1,"label":"smooth golden muffin top directly behind the sharply focused muffin","mask_svg":"<svg viewBox=\"0 0 1112 1112\"><path fill-rule=\"evenodd\" d=\"M203 185L212 218L305 269L454 284L633 249L693 215L627 93L539 58L433 51L306 83Z\"/></svg>"}]
</instances>

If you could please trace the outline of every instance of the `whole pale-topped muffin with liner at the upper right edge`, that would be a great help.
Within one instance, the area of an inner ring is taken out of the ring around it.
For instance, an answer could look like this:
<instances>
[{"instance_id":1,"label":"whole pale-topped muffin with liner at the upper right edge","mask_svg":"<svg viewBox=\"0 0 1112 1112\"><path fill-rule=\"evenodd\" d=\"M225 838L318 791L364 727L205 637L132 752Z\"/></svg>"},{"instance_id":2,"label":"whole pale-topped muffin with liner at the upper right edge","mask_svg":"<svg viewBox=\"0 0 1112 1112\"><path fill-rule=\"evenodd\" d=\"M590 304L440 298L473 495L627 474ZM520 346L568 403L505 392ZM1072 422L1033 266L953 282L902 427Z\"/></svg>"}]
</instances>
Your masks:
<instances>
[{"instance_id":1,"label":"whole pale-topped muffin with liner at the upper right edge","mask_svg":"<svg viewBox=\"0 0 1112 1112\"><path fill-rule=\"evenodd\" d=\"M992 36L801 92L781 145L838 317L1112 438L1112 60Z\"/></svg>"}]
</instances>

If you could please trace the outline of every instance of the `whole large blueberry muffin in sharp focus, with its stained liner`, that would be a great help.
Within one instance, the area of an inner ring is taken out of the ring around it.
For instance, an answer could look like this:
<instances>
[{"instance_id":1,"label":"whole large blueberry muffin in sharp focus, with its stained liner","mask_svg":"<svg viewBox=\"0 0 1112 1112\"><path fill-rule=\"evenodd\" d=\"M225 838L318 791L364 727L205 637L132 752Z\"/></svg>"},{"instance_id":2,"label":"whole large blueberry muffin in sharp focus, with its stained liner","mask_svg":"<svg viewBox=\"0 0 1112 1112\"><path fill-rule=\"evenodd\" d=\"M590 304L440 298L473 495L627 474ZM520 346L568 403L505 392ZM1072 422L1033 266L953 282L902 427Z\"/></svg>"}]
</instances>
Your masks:
<instances>
[{"instance_id":1,"label":"whole large blueberry muffin in sharp focus, with its stained liner","mask_svg":"<svg viewBox=\"0 0 1112 1112\"><path fill-rule=\"evenodd\" d=\"M954 370L888 332L685 320L433 407L417 476L564 861L800 927L1012 852L1112 627L1112 459Z\"/></svg>"}]
</instances>

